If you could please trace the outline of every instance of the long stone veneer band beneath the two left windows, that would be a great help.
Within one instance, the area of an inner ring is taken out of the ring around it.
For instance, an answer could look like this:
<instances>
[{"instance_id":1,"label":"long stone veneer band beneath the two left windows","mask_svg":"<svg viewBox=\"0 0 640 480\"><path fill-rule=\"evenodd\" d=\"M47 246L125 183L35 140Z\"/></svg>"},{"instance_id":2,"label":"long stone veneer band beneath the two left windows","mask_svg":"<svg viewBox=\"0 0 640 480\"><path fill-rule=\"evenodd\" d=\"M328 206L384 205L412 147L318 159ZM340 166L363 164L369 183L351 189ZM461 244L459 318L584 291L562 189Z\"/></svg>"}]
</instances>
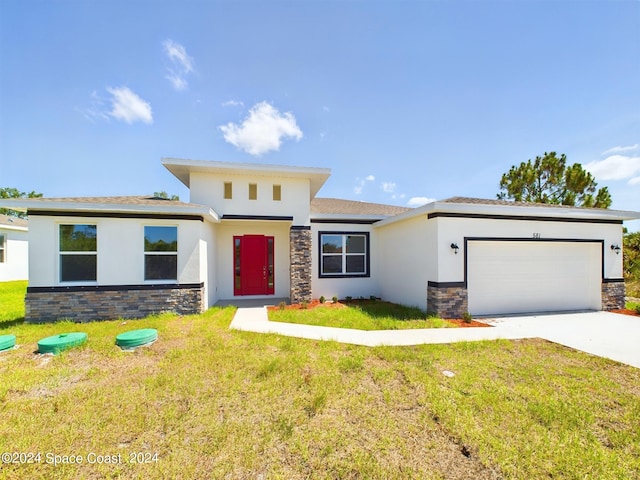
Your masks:
<instances>
[{"instance_id":1,"label":"long stone veneer band beneath the two left windows","mask_svg":"<svg viewBox=\"0 0 640 480\"><path fill-rule=\"evenodd\" d=\"M25 319L30 323L70 319L75 322L142 318L173 312L204 311L204 285L117 285L105 287L29 288Z\"/></svg>"}]
</instances>

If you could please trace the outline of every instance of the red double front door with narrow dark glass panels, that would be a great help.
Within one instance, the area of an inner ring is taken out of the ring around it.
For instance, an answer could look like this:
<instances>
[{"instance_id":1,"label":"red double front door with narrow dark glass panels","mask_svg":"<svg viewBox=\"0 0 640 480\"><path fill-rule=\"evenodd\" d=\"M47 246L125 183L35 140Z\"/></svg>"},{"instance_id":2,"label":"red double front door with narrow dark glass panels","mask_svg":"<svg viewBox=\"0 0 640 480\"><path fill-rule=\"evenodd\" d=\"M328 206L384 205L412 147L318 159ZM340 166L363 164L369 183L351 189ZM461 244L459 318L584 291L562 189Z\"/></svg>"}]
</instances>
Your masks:
<instances>
[{"instance_id":1,"label":"red double front door with narrow dark glass panels","mask_svg":"<svg viewBox=\"0 0 640 480\"><path fill-rule=\"evenodd\" d=\"M233 237L234 295L273 295L274 241L264 235Z\"/></svg>"}]
</instances>

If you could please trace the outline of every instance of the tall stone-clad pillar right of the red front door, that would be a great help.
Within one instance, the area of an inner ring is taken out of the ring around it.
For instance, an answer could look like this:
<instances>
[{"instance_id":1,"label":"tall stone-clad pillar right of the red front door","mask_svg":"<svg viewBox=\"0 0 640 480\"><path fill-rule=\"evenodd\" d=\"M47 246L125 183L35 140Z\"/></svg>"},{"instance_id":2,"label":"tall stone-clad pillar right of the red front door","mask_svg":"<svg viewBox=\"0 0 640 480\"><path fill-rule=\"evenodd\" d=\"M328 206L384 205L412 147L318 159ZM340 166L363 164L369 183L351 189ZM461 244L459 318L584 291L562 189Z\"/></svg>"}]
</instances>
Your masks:
<instances>
[{"instance_id":1,"label":"tall stone-clad pillar right of the red front door","mask_svg":"<svg viewBox=\"0 0 640 480\"><path fill-rule=\"evenodd\" d=\"M311 301L311 228L292 227L289 234L291 303Z\"/></svg>"}]
</instances>

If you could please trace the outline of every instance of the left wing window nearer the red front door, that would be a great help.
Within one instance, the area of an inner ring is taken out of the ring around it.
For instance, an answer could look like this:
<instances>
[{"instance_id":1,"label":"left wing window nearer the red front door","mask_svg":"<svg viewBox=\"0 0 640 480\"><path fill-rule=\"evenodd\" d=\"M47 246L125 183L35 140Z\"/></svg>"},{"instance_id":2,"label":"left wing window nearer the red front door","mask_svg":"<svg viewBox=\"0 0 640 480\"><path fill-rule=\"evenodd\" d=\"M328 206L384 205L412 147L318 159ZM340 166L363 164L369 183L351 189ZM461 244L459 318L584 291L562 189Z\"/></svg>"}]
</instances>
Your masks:
<instances>
[{"instance_id":1,"label":"left wing window nearer the red front door","mask_svg":"<svg viewBox=\"0 0 640 480\"><path fill-rule=\"evenodd\" d=\"M178 279L178 227L144 227L144 279Z\"/></svg>"}]
</instances>

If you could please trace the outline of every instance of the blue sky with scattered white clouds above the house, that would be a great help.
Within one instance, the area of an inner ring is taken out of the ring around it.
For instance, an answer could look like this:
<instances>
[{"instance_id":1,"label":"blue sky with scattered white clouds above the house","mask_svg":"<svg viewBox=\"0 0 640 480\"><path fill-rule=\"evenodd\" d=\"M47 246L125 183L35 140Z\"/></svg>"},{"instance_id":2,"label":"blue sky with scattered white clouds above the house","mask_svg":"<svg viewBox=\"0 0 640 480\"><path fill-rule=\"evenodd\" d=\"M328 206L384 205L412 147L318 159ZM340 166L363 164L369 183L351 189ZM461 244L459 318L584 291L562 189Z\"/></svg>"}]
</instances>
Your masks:
<instances>
[{"instance_id":1,"label":"blue sky with scattered white clouds above the house","mask_svg":"<svg viewBox=\"0 0 640 480\"><path fill-rule=\"evenodd\" d=\"M188 200L178 157L417 205L556 151L640 210L638 59L636 0L3 0L0 186Z\"/></svg>"}]
</instances>

